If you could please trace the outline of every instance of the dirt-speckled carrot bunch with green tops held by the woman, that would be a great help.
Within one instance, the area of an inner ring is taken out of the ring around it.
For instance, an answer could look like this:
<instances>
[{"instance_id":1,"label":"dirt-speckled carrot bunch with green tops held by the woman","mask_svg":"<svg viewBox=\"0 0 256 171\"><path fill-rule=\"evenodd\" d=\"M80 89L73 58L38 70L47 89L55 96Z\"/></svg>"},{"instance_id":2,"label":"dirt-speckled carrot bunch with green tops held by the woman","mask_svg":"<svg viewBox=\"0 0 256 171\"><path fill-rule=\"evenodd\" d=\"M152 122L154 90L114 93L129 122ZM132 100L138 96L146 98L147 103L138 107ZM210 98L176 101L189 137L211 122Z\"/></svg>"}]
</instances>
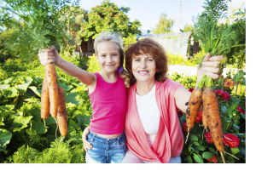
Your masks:
<instances>
[{"instance_id":1,"label":"dirt-speckled carrot bunch with green tops held by the woman","mask_svg":"<svg viewBox=\"0 0 256 171\"><path fill-rule=\"evenodd\" d=\"M213 21L214 20L212 20L212 29L204 32L204 37L202 37L202 45L206 52L209 52L210 54L212 54L212 56L223 54L224 57L226 57L225 55L230 52L231 48L245 46L245 44L229 43L231 37L236 36L235 31L229 30L230 26L226 28L225 31L219 31L217 22ZM204 59L202 59L201 61L203 60ZM224 58L224 60L220 62L220 67L223 66L225 60L227 59ZM201 67L201 63L199 67ZM198 88L195 88L190 96L188 109L186 111L186 123L188 125L187 140L189 137L189 130L194 127L196 115L198 111L200 111L201 105L203 105L202 123L204 126L204 130L207 129L207 127L210 129L214 145L220 152L224 162L223 152L227 154L229 153L224 151L224 136L221 116L218 108L218 96L212 86L212 78L203 75L201 77L200 83L198 84Z\"/></svg>"}]
</instances>

